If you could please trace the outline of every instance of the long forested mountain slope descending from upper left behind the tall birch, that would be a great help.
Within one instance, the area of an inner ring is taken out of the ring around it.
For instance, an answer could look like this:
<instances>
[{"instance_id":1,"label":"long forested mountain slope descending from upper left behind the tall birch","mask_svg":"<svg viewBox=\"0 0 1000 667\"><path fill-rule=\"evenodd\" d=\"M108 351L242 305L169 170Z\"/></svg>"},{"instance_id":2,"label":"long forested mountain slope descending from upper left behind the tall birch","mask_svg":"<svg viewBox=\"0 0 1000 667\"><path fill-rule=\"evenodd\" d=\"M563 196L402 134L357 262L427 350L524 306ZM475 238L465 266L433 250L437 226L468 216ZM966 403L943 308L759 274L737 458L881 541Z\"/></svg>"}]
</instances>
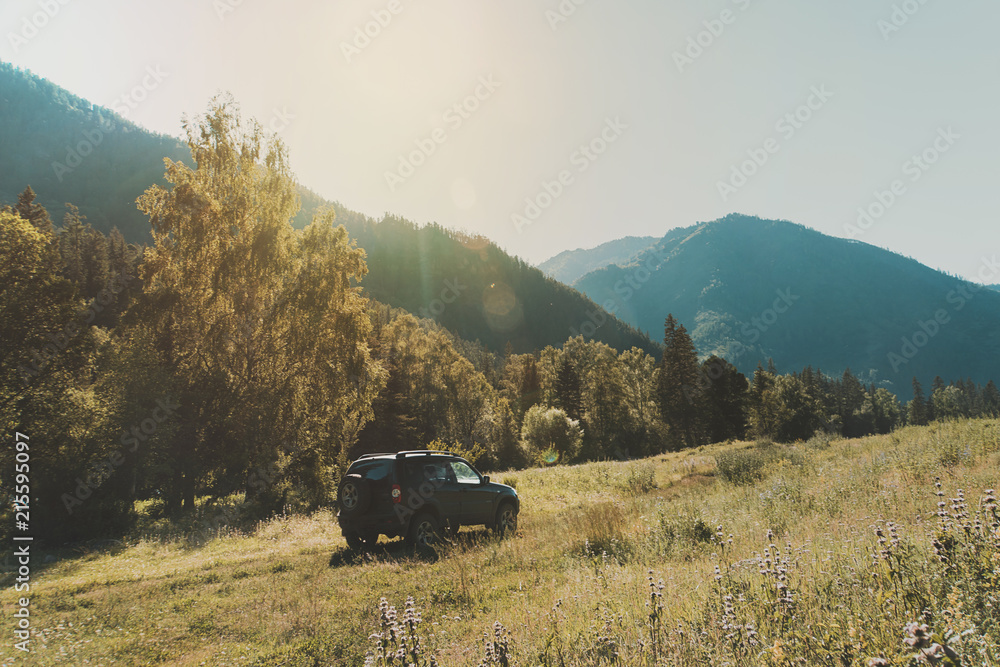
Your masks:
<instances>
[{"instance_id":1,"label":"long forested mountain slope descending from upper left behind the tall birch","mask_svg":"<svg viewBox=\"0 0 1000 667\"><path fill-rule=\"evenodd\" d=\"M0 101L0 203L13 204L30 185L57 224L70 202L95 228L116 226L128 241L149 242L149 222L135 199L153 183L166 185L164 157L190 164L186 145L4 63ZM395 217L376 222L305 188L299 194L296 226L332 206L368 255L362 286L382 303L435 319L493 350L507 343L516 352L561 346L582 332L618 350L658 354L648 337L487 239Z\"/></svg>"}]
</instances>

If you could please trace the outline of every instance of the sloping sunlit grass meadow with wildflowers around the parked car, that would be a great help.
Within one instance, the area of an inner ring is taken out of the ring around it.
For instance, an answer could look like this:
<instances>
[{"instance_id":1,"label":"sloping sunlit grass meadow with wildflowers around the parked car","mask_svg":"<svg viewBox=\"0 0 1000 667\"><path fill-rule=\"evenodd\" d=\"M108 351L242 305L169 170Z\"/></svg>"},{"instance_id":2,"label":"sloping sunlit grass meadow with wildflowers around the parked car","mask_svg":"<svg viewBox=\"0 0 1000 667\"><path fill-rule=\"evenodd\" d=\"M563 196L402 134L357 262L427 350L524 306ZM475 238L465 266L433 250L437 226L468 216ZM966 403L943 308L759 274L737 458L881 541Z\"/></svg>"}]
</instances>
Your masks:
<instances>
[{"instance_id":1,"label":"sloping sunlit grass meadow with wildflowers around the parked car","mask_svg":"<svg viewBox=\"0 0 1000 667\"><path fill-rule=\"evenodd\" d=\"M522 666L905 665L918 653L996 665L1000 527L986 491L998 464L997 421L729 443L494 475L521 496L519 534L463 529L436 555L393 542L352 556L327 512L205 543L36 555L32 652L8 633L0 655L361 665L381 641L390 658L371 662L396 665L415 638L389 635L409 627L416 663L442 667L481 664L486 633L487 665L504 653Z\"/></svg>"}]
</instances>

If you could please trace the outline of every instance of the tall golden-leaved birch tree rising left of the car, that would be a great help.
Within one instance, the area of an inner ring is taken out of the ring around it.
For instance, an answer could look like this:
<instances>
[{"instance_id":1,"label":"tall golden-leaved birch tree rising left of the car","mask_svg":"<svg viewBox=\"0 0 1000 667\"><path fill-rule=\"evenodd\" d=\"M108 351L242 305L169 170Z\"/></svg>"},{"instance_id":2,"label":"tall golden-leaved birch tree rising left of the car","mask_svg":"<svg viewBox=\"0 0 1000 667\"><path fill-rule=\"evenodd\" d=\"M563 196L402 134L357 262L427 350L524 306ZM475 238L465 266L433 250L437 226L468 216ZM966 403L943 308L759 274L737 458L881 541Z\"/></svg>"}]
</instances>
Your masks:
<instances>
[{"instance_id":1,"label":"tall golden-leaved birch tree rising left of the car","mask_svg":"<svg viewBox=\"0 0 1000 667\"><path fill-rule=\"evenodd\" d=\"M184 129L194 166L165 160L171 187L139 199L154 247L132 319L178 387L163 492L171 507L235 490L315 506L384 384L356 285L364 251L332 211L292 228L287 150L230 99Z\"/></svg>"}]
</instances>

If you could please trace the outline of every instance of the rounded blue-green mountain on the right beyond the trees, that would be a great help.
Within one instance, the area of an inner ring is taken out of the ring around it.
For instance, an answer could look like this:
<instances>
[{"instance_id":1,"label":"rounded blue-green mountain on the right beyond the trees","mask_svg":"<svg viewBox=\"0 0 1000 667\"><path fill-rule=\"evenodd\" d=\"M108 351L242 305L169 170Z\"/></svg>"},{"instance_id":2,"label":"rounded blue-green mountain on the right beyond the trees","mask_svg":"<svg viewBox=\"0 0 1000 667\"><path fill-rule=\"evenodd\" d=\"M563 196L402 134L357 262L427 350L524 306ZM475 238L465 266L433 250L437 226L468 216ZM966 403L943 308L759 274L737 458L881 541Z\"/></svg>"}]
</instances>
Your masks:
<instances>
[{"instance_id":1,"label":"rounded blue-green mountain on the right beyond the trees","mask_svg":"<svg viewBox=\"0 0 1000 667\"><path fill-rule=\"evenodd\" d=\"M849 367L901 396L913 376L1000 378L1000 294L790 222L675 229L574 287L652 336L673 313L699 354L744 373L768 358L781 371Z\"/></svg>"}]
</instances>

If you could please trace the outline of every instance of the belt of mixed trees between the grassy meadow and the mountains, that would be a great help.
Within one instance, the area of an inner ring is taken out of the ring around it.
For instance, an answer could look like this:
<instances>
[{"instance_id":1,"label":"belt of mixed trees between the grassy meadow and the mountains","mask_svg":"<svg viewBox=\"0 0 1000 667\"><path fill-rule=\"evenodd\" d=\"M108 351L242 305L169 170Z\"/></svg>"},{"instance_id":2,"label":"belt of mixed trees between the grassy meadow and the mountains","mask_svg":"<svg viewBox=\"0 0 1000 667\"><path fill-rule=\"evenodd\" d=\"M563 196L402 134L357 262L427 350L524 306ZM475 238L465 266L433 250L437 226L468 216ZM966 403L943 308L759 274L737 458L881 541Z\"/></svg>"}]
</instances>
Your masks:
<instances>
[{"instance_id":1,"label":"belt of mixed trees between the grassy meadow and the mountains","mask_svg":"<svg viewBox=\"0 0 1000 667\"><path fill-rule=\"evenodd\" d=\"M57 223L29 184L0 212L0 419L30 437L38 539L122 535L140 506L183 521L205 498L238 497L244 519L312 511L372 451L508 470L1000 416L992 381L914 378L904 404L850 370L761 360L748 378L669 313L662 349L491 349L379 301L332 209L297 228L287 151L231 102L185 130L192 164L168 159L137 202L150 243L71 203Z\"/></svg>"}]
</instances>

